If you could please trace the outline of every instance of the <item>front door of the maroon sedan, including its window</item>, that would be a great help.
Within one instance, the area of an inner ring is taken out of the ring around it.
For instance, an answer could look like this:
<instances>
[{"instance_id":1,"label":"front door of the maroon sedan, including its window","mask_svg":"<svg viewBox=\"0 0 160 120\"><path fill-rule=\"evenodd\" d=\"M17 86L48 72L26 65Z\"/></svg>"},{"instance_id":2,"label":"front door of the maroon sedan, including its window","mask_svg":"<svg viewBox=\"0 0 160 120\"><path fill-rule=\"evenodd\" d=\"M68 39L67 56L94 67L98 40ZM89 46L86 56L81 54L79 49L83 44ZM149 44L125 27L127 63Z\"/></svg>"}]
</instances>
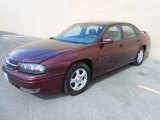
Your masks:
<instances>
[{"instance_id":1,"label":"front door of the maroon sedan, including its window","mask_svg":"<svg viewBox=\"0 0 160 120\"><path fill-rule=\"evenodd\" d=\"M125 43L119 25L110 26L102 39L110 38L113 43L100 45L98 48L97 74L111 70L125 61Z\"/></svg>"}]
</instances>

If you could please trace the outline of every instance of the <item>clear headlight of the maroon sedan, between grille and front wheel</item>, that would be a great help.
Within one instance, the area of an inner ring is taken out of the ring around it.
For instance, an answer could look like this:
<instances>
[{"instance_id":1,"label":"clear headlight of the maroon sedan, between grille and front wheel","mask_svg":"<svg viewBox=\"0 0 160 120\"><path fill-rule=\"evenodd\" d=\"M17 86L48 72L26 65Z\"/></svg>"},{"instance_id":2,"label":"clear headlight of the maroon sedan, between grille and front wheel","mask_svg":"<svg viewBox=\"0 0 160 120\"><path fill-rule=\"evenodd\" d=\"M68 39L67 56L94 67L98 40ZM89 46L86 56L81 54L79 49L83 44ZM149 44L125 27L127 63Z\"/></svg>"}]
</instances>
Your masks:
<instances>
[{"instance_id":1,"label":"clear headlight of the maroon sedan, between grille and front wheel","mask_svg":"<svg viewBox=\"0 0 160 120\"><path fill-rule=\"evenodd\" d=\"M39 75L46 73L47 68L41 64L22 63L20 65L19 71L24 73Z\"/></svg>"}]
</instances>

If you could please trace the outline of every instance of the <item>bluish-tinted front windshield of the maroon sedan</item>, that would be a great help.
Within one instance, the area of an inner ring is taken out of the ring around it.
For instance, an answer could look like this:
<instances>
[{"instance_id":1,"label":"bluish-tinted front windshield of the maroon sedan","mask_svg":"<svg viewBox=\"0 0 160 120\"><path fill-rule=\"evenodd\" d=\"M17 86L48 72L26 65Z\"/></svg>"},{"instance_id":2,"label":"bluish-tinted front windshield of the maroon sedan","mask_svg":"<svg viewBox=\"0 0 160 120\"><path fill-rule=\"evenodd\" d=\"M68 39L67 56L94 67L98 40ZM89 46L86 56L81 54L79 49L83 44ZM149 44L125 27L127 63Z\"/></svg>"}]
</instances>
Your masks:
<instances>
[{"instance_id":1,"label":"bluish-tinted front windshield of the maroon sedan","mask_svg":"<svg viewBox=\"0 0 160 120\"><path fill-rule=\"evenodd\" d=\"M96 41L104 25L76 24L55 37L56 40L77 44L89 44Z\"/></svg>"}]
</instances>

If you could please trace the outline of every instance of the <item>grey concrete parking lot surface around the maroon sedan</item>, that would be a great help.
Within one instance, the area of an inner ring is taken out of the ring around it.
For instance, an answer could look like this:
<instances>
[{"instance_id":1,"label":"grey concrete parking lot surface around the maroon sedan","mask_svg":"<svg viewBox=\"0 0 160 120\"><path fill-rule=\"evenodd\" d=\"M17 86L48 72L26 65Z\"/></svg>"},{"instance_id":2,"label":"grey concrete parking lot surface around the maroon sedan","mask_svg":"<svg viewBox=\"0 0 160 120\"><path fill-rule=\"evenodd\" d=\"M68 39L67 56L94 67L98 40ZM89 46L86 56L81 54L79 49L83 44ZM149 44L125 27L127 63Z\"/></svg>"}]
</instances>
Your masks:
<instances>
[{"instance_id":1,"label":"grey concrete parking lot surface around the maroon sedan","mask_svg":"<svg viewBox=\"0 0 160 120\"><path fill-rule=\"evenodd\" d=\"M0 32L0 62L33 37ZM1 64L0 63L0 64ZM92 81L78 96L25 93L0 72L0 120L159 120L160 59L126 65Z\"/></svg>"}]
</instances>

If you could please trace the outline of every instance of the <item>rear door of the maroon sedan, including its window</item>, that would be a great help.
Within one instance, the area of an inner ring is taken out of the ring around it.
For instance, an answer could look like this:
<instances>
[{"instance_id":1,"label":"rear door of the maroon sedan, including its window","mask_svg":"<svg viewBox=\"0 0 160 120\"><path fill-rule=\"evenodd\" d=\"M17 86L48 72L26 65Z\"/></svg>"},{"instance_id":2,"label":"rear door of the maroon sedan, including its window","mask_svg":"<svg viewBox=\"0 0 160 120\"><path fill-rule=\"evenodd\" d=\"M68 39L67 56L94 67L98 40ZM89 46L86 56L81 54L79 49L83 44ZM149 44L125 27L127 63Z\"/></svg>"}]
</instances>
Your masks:
<instances>
[{"instance_id":1,"label":"rear door of the maroon sedan, including its window","mask_svg":"<svg viewBox=\"0 0 160 120\"><path fill-rule=\"evenodd\" d=\"M121 25L123 31L123 40L125 41L126 61L133 60L138 52L140 38L136 32L136 28L130 24Z\"/></svg>"}]
</instances>

